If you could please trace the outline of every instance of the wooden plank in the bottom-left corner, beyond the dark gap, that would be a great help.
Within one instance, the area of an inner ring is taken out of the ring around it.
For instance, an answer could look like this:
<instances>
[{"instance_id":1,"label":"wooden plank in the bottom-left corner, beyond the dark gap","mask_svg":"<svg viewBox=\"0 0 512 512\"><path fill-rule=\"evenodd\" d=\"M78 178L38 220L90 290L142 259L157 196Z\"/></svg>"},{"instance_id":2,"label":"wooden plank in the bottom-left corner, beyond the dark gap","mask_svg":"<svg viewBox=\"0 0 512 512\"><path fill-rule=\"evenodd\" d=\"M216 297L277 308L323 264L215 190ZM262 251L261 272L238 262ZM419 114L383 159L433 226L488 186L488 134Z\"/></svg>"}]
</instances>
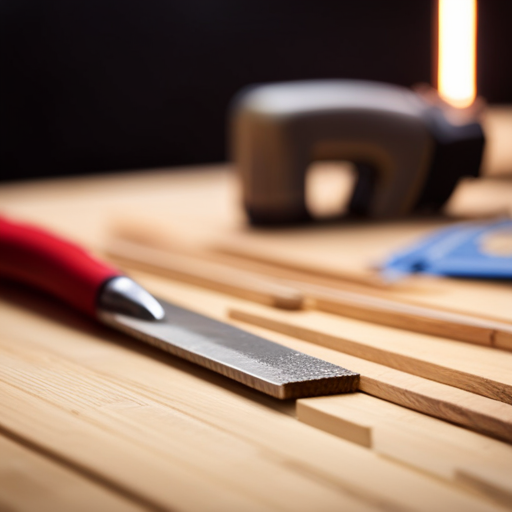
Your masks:
<instances>
[{"instance_id":1,"label":"wooden plank in the bottom-left corner, beyond the dark gap","mask_svg":"<svg viewBox=\"0 0 512 512\"><path fill-rule=\"evenodd\" d=\"M0 509L23 512L151 510L0 435Z\"/></svg>"}]
</instances>

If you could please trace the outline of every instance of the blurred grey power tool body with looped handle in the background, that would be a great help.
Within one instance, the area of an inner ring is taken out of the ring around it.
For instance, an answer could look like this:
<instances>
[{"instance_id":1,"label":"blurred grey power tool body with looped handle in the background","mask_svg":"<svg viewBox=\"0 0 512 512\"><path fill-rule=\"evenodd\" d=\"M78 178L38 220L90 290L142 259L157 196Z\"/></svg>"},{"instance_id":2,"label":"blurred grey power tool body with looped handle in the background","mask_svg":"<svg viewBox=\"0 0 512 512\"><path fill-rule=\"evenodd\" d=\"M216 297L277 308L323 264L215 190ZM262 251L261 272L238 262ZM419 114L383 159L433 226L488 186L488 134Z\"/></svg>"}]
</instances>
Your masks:
<instances>
[{"instance_id":1,"label":"blurred grey power tool body with looped handle in the background","mask_svg":"<svg viewBox=\"0 0 512 512\"><path fill-rule=\"evenodd\" d=\"M231 152L254 223L310 218L305 176L316 160L356 164L350 210L394 217L437 209L462 175L478 175L480 124L454 121L412 90L321 80L261 85L236 98Z\"/></svg>"}]
</instances>

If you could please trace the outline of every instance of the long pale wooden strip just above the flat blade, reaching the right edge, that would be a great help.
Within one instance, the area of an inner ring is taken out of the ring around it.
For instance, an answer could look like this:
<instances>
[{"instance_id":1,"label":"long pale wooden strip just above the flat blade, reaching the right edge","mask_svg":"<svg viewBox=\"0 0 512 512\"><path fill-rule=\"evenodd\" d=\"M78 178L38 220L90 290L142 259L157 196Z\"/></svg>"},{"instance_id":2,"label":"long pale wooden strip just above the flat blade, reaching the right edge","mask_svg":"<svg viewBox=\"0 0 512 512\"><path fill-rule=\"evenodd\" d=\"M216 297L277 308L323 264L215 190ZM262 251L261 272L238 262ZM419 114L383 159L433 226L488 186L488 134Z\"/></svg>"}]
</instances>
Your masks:
<instances>
[{"instance_id":1,"label":"long pale wooden strip just above the flat blade, reaching the right edge","mask_svg":"<svg viewBox=\"0 0 512 512\"><path fill-rule=\"evenodd\" d=\"M397 370L512 404L512 354L321 312L249 306L231 316Z\"/></svg>"}]
</instances>

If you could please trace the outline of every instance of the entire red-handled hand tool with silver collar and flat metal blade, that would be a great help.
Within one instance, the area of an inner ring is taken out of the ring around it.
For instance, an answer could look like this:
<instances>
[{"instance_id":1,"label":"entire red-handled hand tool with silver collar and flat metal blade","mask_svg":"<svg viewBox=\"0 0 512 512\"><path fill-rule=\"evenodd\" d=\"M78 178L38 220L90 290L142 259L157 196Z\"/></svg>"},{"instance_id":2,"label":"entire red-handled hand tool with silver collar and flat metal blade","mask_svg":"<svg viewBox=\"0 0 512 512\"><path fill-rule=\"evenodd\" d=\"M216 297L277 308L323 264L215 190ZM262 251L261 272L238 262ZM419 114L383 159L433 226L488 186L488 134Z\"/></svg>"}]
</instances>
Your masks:
<instances>
[{"instance_id":1,"label":"entire red-handled hand tool with silver collar and flat metal blade","mask_svg":"<svg viewBox=\"0 0 512 512\"><path fill-rule=\"evenodd\" d=\"M157 299L82 248L2 217L0 276L40 288L117 330L276 398L358 387L355 372Z\"/></svg>"}]
</instances>

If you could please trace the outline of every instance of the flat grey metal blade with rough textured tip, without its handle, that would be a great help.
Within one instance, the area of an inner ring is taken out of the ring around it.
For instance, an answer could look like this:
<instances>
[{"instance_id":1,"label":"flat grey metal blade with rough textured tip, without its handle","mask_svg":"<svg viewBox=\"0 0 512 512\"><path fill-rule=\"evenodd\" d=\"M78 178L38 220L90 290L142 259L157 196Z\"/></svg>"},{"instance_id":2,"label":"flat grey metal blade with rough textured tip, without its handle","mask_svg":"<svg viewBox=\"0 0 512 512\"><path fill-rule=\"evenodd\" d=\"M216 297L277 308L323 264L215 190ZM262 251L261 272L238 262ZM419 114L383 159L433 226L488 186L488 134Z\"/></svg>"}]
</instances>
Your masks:
<instances>
[{"instance_id":1,"label":"flat grey metal blade with rough textured tip, without its handle","mask_svg":"<svg viewBox=\"0 0 512 512\"><path fill-rule=\"evenodd\" d=\"M101 311L104 323L280 399L356 391L359 374L157 299L162 320Z\"/></svg>"}]
</instances>

